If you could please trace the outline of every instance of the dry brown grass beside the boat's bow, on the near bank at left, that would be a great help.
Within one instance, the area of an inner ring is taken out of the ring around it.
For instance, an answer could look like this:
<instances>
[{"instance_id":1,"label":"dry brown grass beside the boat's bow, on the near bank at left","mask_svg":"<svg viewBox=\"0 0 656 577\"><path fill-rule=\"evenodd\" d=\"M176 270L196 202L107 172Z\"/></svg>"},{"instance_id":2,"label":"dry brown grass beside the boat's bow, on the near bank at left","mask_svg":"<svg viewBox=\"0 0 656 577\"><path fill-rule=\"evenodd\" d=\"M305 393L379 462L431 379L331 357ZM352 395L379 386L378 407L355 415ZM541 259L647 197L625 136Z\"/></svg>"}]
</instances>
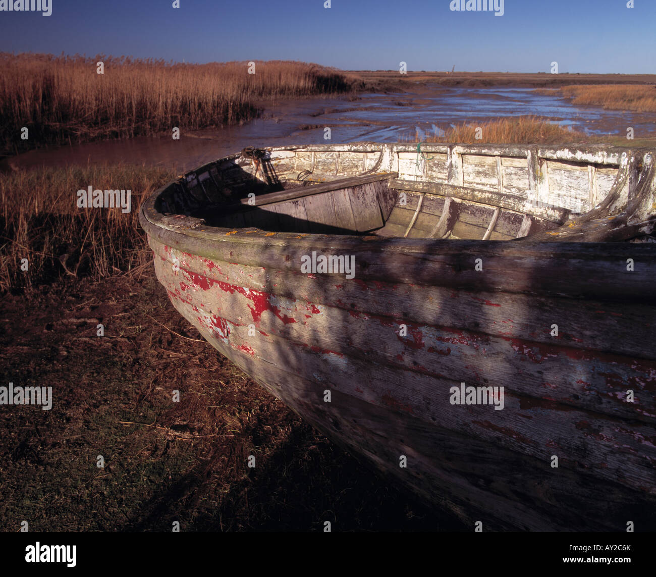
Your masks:
<instances>
[{"instance_id":1,"label":"dry brown grass beside the boat's bow, on the near bank at left","mask_svg":"<svg viewBox=\"0 0 656 577\"><path fill-rule=\"evenodd\" d=\"M100 279L146 265L139 207L175 176L159 167L93 166L0 174L0 292L29 293L58 276ZM78 208L76 192L90 184L132 190L131 212Z\"/></svg>"}]
</instances>

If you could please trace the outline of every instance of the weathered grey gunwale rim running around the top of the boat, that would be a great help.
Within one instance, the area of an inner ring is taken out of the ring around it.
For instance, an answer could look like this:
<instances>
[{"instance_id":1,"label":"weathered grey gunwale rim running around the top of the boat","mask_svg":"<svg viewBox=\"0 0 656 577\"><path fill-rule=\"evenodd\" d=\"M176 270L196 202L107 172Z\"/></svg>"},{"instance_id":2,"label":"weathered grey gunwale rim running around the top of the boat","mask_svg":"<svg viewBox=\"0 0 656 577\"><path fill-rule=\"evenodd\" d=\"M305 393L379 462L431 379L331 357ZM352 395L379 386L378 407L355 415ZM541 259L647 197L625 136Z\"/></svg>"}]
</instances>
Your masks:
<instances>
[{"instance_id":1,"label":"weathered grey gunwale rim running around the top of the boat","mask_svg":"<svg viewBox=\"0 0 656 577\"><path fill-rule=\"evenodd\" d=\"M417 150L417 146L412 144L384 144L384 143L355 143L355 144L341 144L341 145L295 145L295 146L278 146L273 148L268 148L268 152L275 152L276 150L307 150L311 152L312 150L356 150L360 148L361 150L366 150L367 152L372 151L371 148L373 145L380 147L380 154L384 154L385 150ZM423 145L422 145L423 146ZM426 148L427 152L432 150L441 149L447 150L449 147L453 149L454 146L458 146L463 151L487 151L488 154L491 152L498 152L503 150L504 154L508 156L508 151L515 150L516 152L524 151L528 152L529 150L535 150L535 146L507 146L503 145L489 145L489 144L480 144L480 145L456 145L456 144L432 144L429 148ZM387 148L384 148L387 147ZM561 151L558 160L567 160L562 158L563 146L550 146L550 147L538 147L543 152L551 152L556 158L556 153ZM589 148L588 150L581 151L577 150L576 153L571 153L571 156L574 160L577 160L581 155L593 154L594 152L603 152L600 150L604 148L605 151L609 148L613 148L613 151L619 154L620 158L623 157L623 153L626 153L627 156L632 156L639 151L648 151L652 152L649 148L618 148L618 147L603 147L603 145L596 145L595 148ZM598 150L599 149L599 150ZM423 149L422 149L423 150ZM591 265L598 263L601 269L604 269L602 266L603 263L608 263L613 259L617 259L617 262L621 265L627 256L630 256L634 261L640 261L642 265L640 270L635 270L632 272L632 277L630 280L626 280L626 283L615 282L619 289L631 288L631 290L624 290L623 295L618 295L620 299L623 297L625 299L636 299L644 298L647 299L653 289L649 288L649 279L653 279L656 276L656 246L651 243L645 244L634 244L627 242L569 242L569 241L554 241L548 242L548 240L536 240L531 241L530 238L522 239L521 242L514 240L447 240L447 239L425 239L425 238L400 238L400 237L382 237L382 236L362 236L362 235L346 235L346 234L317 234L317 233L296 233L296 232L268 232L259 228L226 228L219 226L209 226L200 219L194 219L190 217L180 218L180 223L167 223L165 222L165 215L159 212L155 208L155 203L161 194L163 194L169 187L174 185L184 186L186 181L186 175L197 173L207 169L211 165L216 165L227 160L234 160L239 158L240 154L233 154L223 158L219 158L210 163L205 163L201 167L188 171L184 176L168 182L164 186L161 186L155 190L140 207L139 220L142 228L146 231L148 236L157 239L158 242L161 242L167 246L173 246L177 249L180 249L187 253L194 253L199 256L216 259L218 261L232 262L232 263L242 263L244 265L262 267L262 268L272 268L277 267L278 270L298 268L298 258L302 255L311 254L312 251L326 251L327 249L333 251L341 251L342 253L349 253L354 255L360 255L364 257L369 255L371 257L372 253L395 253L401 261L406 261L407 265L411 268L416 268L417 260L423 261L426 265L434 264L435 261L431 260L435 257L443 257L444 262L441 263L443 267L451 267L455 271L462 270L460 269L459 262L462 261L462 258L458 259L457 257L467 257L471 259L472 262L474 258L482 258L485 260L486 257L499 258L508 255L509 263L512 262L512 256L514 254L517 257L518 253L521 253L522 259L537 259L539 261L544 259L548 255L558 255L560 261L567 260L569 262L577 263L586 263L585 270L588 271L591 268ZM520 154L523 156L523 154ZM186 224L188 223L188 224ZM226 244L227 243L227 244ZM285 259L280 259L279 263L272 263L271 251L263 251L262 247L269 247L274 250L277 249L286 249ZM255 250L254 250L255 249ZM259 249L259 250L258 250ZM228 256L229 255L229 256ZM367 261L367 259L363 259ZM516 260L516 259L515 259ZM413 267L414 265L414 267ZM440 267L440 268L443 268ZM386 282L391 283L402 283L407 284L407 271L404 270L405 267L398 266L396 268L388 268L384 278ZM438 277L440 271L438 268L434 268L433 276ZM339 278L335 274L327 274L327 278ZM372 278L379 280L376 274L365 275L366 278ZM423 275L425 277L425 275ZM642 277L642 278L641 278ZM441 284L439 278L434 278L430 280L428 278L417 278L415 284L426 285L426 286L451 286L449 284ZM558 283L550 283L552 285L558 285ZM563 283L561 283L563 284ZM640 287L639 287L640 286ZM457 285L455 286L455 288ZM461 288L471 289L472 284L462 285ZM489 286L481 282L477 284L474 288L484 289L484 290L496 290L496 291L506 291L506 292L526 292L523 289L513 289L512 282L504 283L503 286ZM552 287L553 289L553 287ZM544 294L558 294L563 296L571 296L568 293L565 286L563 286L562 292L556 291L538 291L539 293ZM598 293L591 291L586 297L590 298L599 298L596 296ZM605 294L605 293L604 293ZM605 297L608 298L606 295Z\"/></svg>"}]
</instances>

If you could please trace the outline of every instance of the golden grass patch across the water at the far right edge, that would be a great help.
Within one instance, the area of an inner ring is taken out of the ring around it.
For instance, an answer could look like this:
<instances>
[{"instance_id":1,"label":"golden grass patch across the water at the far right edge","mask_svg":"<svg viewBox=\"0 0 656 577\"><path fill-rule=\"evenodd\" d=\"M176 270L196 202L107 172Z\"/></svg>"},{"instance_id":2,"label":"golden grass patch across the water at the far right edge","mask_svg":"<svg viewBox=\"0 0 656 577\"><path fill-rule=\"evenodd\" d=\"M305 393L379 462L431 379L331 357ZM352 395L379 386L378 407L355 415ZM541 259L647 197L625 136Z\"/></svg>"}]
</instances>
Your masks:
<instances>
[{"instance_id":1,"label":"golden grass patch across the water at the far right edge","mask_svg":"<svg viewBox=\"0 0 656 577\"><path fill-rule=\"evenodd\" d=\"M603 106L608 110L656 112L656 85L578 85L564 86L560 91L563 96L572 98L573 104Z\"/></svg>"}]
</instances>

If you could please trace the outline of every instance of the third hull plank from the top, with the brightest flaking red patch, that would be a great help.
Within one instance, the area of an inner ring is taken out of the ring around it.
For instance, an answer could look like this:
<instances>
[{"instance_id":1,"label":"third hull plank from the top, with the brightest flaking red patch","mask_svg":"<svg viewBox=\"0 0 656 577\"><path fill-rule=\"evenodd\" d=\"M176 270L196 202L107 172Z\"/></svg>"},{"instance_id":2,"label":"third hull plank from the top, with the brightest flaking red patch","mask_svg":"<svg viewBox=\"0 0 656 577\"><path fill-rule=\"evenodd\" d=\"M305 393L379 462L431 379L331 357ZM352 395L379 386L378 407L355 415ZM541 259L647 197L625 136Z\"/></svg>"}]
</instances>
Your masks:
<instances>
[{"instance_id":1,"label":"third hull plank from the top, with the brightest flaking red patch","mask_svg":"<svg viewBox=\"0 0 656 577\"><path fill-rule=\"evenodd\" d=\"M580 406L611 416L638 420L643 417L656 417L656 403L647 394L656 388L656 381L652 376L656 372L656 363L653 360L644 362L634 356L623 358L602 351L593 354L586 339L569 335L569 341L564 341L567 333L563 333L560 339L545 340L544 336L552 331L553 323L550 324L550 320L553 317L541 319L544 326L543 343L529 340L536 338L534 333L525 333L529 338L526 340L509 337L508 335L514 332L510 331L514 324L512 319L498 322L501 326L497 329L499 336L495 337L477 330L464 330L464 323L459 321L459 317L465 314L475 315L487 325L497 324L497 321L492 320L495 316L502 319L502 314L495 315L496 311L488 314L483 310L483 307L501 308L501 303L487 301L489 305L485 305L480 302L479 297L465 302L459 310L451 309L451 314L447 315L440 314L430 318L426 314L428 311L423 310L420 322L410 322L405 314L405 310L409 308L408 303L402 301L400 304L393 304L393 299L399 298L395 291L376 291L380 295L386 295L384 302L387 310L382 312L387 314L384 316L371 312L369 309L373 307L367 307L366 303L366 310L360 312L362 309L357 309L356 313L356 309L344 309L344 303L342 307L331 306L327 304L329 299L326 298L320 301L300 299L299 291L295 293L295 297L282 297L277 288L281 286L280 282L276 282L274 294L272 289L253 292L255 289L249 288L252 286L251 280L251 285L246 289L234 284L234 281L231 283L213 280L184 268L190 267L192 257L177 253L176 256L183 267L182 276L185 279L180 281L180 287L163 280L169 291L184 300L187 298L186 292L193 291L196 285L201 288L216 286L216 293L222 297L222 306L214 312L235 324L245 324L249 317L253 316L253 322L267 334L277 334L302 343L303 346L316 347L317 350L355 356L365 360L365 363L375 362L380 367L390 366L395 370L405 368L433 377L451 375L458 382L464 380L483 384L489 379L497 385L522 391L527 395L548 390L548 397L552 401L565 402L570 406ZM160 260L165 261L163 257ZM166 265L156 262L164 270ZM220 268L226 268L225 263L220 265ZM249 274L250 276L255 275ZM349 285L348 279L342 283L342 286ZM476 310L477 307L479 310ZM401 312L397 312L396 317L390 316L390 309L399 311L400 308ZM509 307L504 307L503 312L508 314L508 309ZM654 311L651 312L654 316ZM263 314L266 319L262 319ZM645 314L644 309L642 314ZM599 318L600 315L598 312L594 315L586 312L586 316L588 322L592 322L595 316ZM481 324L480 320L478 326ZM444 322L449 322L451 326L445 326ZM653 318L649 322L653 322ZM401 324L407 326L409 336L406 338L400 335ZM347 326L348 331L345 331ZM508 330L504 330L504 326L508 326ZM563 331L566 328L567 324L561 326ZM653 330L649 331L653 333ZM377 335L375 343L371 342L371 335ZM572 341L577 341L579 347L571 347ZM527 361L530 362L527 364ZM438 367L435 366L436 363ZM535 369L537 365L540 366L539 370ZM485 375L485 378L481 375ZM626 383L630 383L628 386L633 387L638 396L633 404L624 400ZM639 391L645 391L646 394L642 395Z\"/></svg>"}]
</instances>

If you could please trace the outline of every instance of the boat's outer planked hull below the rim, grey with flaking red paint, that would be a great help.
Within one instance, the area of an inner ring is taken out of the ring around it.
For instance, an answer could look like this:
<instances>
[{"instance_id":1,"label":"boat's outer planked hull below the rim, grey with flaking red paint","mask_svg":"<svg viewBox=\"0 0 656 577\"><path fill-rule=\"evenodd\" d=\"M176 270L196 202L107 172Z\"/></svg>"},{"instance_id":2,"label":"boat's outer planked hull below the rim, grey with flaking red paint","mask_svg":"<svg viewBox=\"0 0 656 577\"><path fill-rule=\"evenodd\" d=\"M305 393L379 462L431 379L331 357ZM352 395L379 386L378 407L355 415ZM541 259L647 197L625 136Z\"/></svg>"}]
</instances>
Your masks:
<instances>
[{"instance_id":1,"label":"boat's outer planked hull below the rim, grey with flaking red paint","mask_svg":"<svg viewBox=\"0 0 656 577\"><path fill-rule=\"evenodd\" d=\"M625 342L624 354L567 346L586 335L568 327L576 311L565 299L533 297L534 307L549 311L541 327L529 310L517 316L517 295L333 277L333 290L319 299L316 283L300 273L230 264L238 243L225 243L224 260L150 244L171 302L209 343L423 500L489 530L653 522L645 506L655 503L649 400L656 363L628 354L637 343ZM608 335L626 333L625 322L636 333L653 330L630 303L576 307L577 323L596 320ZM474 330L485 318L496 335ZM548 336L556 320L560 339ZM542 334L530 340L527 331ZM462 382L504 387L502 410L492 401L451 404ZM628 387L638 413L624 400ZM627 424L627 416L635 421Z\"/></svg>"}]
</instances>

